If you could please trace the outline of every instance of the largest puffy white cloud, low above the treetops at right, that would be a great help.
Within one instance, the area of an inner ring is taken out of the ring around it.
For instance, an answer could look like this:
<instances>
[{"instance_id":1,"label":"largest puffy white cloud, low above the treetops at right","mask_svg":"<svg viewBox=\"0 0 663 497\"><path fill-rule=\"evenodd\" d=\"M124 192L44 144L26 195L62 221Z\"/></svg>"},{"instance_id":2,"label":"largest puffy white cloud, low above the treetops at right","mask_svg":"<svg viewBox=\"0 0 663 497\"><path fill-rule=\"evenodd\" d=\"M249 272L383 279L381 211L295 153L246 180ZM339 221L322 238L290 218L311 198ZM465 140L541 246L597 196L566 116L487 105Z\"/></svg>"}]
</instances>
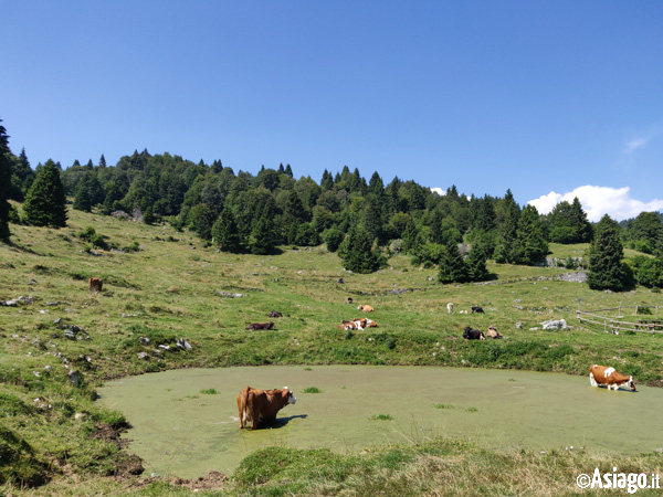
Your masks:
<instances>
[{"instance_id":1,"label":"largest puffy white cloud, low above the treetops at right","mask_svg":"<svg viewBox=\"0 0 663 497\"><path fill-rule=\"evenodd\" d=\"M654 199L650 202L642 202L632 199L629 193L630 190L629 187L610 188L587 184L566 193L551 191L527 203L536 207L540 214L547 214L559 202L566 200L570 203L573 198L578 197L582 210L587 213L587 219L592 222L600 221L603 214L609 214L610 218L622 221L635 218L641 212L654 212L663 209L663 200Z\"/></svg>"}]
</instances>

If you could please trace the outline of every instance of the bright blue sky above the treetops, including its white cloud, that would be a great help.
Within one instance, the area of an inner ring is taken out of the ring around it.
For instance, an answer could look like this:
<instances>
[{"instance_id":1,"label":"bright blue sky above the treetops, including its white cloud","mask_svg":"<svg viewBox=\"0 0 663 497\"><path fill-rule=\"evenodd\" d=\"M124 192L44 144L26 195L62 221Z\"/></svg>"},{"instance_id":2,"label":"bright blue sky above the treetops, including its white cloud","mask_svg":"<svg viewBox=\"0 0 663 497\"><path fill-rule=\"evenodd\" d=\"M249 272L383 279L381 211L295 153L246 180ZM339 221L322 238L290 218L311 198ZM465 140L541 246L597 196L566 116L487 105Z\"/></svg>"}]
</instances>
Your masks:
<instances>
[{"instance_id":1,"label":"bright blue sky above the treetops, including its white cloud","mask_svg":"<svg viewBox=\"0 0 663 497\"><path fill-rule=\"evenodd\" d=\"M15 154L663 209L663 2L0 0Z\"/></svg>"}]
</instances>

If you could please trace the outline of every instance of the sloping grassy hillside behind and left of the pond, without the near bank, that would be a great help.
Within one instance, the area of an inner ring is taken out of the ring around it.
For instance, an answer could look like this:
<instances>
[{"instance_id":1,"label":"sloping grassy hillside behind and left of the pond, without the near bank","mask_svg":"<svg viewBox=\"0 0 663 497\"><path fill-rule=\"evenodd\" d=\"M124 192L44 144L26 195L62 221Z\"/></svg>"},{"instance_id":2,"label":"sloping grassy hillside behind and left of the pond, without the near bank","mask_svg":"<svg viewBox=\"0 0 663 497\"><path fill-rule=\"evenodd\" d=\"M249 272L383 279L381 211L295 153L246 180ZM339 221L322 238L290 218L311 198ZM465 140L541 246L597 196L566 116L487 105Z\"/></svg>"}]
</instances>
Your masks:
<instances>
[{"instance_id":1,"label":"sloping grassy hillside behind and left of the pond, without the near bank","mask_svg":"<svg viewBox=\"0 0 663 497\"><path fill-rule=\"evenodd\" d=\"M569 269L492 262L495 281L441 285L435 267L414 267L403 255L389 258L385 269L359 275L344 271L324 246L235 255L168 225L75 210L69 215L61 230L12 224L11 243L0 245L0 300L27 297L17 307L0 307L0 483L72 485L78 478L90 484L96 476L122 476L96 485L116 490L128 485L139 462L114 434L130 420L93 403L104 380L127 374L295 363L586 374L591 363L610 363L640 384L663 380L661 334L607 335L578 326L575 317L578 299L583 309L661 306L661 294L646 288L592 292L557 278ZM91 248L81 237L88 226L120 250ZM551 244L552 256L566 258L586 246ZM87 292L92 276L103 279L101 294ZM452 315L449 302L455 306ZM358 304L376 308L371 318L379 328L338 328L341 319L358 315ZM459 313L476 305L485 315ZM244 329L269 321L272 309L284 314L275 330ZM561 318L570 329L540 329L544 320ZM465 326L485 330L490 325L508 338L462 339ZM191 349L179 348L178 339ZM469 451L471 457L475 452Z\"/></svg>"}]
</instances>

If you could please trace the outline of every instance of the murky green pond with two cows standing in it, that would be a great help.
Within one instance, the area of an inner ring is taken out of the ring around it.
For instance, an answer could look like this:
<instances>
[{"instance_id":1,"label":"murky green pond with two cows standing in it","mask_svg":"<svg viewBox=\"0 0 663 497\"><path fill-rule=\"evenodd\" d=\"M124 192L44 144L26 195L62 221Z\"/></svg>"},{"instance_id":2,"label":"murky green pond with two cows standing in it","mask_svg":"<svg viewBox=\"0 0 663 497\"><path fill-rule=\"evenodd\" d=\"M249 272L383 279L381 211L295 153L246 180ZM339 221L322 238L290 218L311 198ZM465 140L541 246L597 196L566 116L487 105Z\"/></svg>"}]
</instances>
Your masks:
<instances>
[{"instance_id":1,"label":"murky green pond with two cows standing in it","mask_svg":"<svg viewBox=\"0 0 663 497\"><path fill-rule=\"evenodd\" d=\"M297 398L266 430L240 430L244 387ZM304 393L316 387L319 393ZM214 390L217 393L202 393ZM131 424L124 435L146 473L230 474L272 445L360 452L389 443L463 437L486 447L619 453L663 447L663 390L597 389L588 377L434 367L315 366L186 369L125 378L99 402Z\"/></svg>"}]
</instances>

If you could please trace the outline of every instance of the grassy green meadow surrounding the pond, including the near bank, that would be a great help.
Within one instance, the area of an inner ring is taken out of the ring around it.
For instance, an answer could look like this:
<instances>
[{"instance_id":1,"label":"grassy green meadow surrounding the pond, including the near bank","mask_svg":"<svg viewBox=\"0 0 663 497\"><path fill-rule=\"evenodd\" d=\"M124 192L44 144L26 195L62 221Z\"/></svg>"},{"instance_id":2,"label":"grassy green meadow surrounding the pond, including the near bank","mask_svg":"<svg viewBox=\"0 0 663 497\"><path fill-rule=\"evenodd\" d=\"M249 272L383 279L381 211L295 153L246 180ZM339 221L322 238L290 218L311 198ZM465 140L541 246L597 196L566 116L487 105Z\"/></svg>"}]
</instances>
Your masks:
<instances>
[{"instance_id":1,"label":"grassy green meadow surrounding the pond, including the near bank","mask_svg":"<svg viewBox=\"0 0 663 497\"><path fill-rule=\"evenodd\" d=\"M441 285L434 268L413 267L403 255L377 273L350 274L324 246L224 254L167 225L69 215L61 230L11 225L11 243L0 245L0 300L31 297L0 307L0 491L8 495L564 495L578 490L580 469L609 472L614 461L582 452L488 452L439 440L354 455L264 450L234 475L159 480L139 476L140 462L118 440L130 420L94 403L95 388L129 374L335 363L587 374L590 364L603 363L633 374L636 384L663 385L663 334L615 336L576 319L578 299L583 310L662 306L661 294L646 288L592 292L556 279L570 272L562 267L491 263L497 279L488 284ZM91 251L80 236L88 226L109 244L139 248ZM575 257L586 248L552 244L551 256ZM101 294L87 292L92 276L104 281ZM375 307L370 317L379 328L340 330L341 319L359 317L359 304ZM485 315L459 313L476 305ZM267 318L271 310L283 317ZM540 328L560 318L571 328ZM273 330L244 329L271 320ZM490 325L506 339L462 339L465 326L485 331ZM178 347L181 339L191 349ZM78 373L76 385L70 370ZM663 473L663 456L620 457L620 470L629 468Z\"/></svg>"}]
</instances>

